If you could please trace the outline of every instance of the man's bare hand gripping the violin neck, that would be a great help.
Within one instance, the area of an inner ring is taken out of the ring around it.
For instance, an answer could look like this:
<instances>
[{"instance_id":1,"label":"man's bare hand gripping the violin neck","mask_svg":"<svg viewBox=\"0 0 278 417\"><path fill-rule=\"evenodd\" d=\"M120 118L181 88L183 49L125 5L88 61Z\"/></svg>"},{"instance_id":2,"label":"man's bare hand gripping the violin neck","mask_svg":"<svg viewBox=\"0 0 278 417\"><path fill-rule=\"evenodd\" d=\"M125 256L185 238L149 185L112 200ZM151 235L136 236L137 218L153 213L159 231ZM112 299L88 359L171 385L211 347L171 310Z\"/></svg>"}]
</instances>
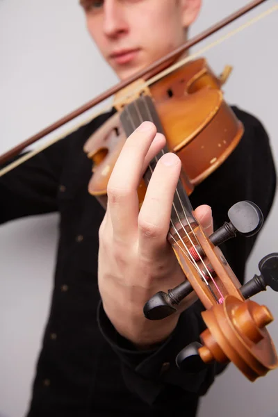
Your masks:
<instances>
[{"instance_id":1,"label":"man's bare hand gripping the violin neck","mask_svg":"<svg viewBox=\"0 0 278 417\"><path fill-rule=\"evenodd\" d=\"M184 280L167 233L181 161L165 154L156 165L139 211L138 184L152 158L165 146L165 137L144 122L126 140L108 183L108 206L99 229L99 291L104 311L122 336L137 347L161 343L179 320L181 311L161 322L143 315L147 300ZM213 232L209 206L195 215L208 234ZM184 307L183 307L184 309Z\"/></svg>"}]
</instances>

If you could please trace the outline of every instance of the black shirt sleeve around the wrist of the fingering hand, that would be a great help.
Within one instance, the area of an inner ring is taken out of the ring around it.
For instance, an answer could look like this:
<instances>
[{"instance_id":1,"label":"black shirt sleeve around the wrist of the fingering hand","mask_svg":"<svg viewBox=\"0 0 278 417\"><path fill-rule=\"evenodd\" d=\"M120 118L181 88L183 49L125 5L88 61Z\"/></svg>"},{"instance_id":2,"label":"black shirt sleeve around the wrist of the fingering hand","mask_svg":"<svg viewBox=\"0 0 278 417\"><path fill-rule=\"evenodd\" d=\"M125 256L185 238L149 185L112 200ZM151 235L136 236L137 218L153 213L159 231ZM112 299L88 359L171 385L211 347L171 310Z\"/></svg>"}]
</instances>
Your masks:
<instances>
[{"instance_id":1,"label":"black shirt sleeve around the wrist of the fingering hand","mask_svg":"<svg viewBox=\"0 0 278 417\"><path fill-rule=\"evenodd\" d=\"M138 351L117 333L102 302L99 303L97 320L101 334L122 363L126 386L147 404L198 398L208 391L215 375L224 370L225 366L217 363L208 364L196 373L185 373L177 367L177 354L189 343L199 341L199 334L206 328L200 314L202 309L202 304L196 302L181 313L176 329L163 344L154 350Z\"/></svg>"}]
</instances>

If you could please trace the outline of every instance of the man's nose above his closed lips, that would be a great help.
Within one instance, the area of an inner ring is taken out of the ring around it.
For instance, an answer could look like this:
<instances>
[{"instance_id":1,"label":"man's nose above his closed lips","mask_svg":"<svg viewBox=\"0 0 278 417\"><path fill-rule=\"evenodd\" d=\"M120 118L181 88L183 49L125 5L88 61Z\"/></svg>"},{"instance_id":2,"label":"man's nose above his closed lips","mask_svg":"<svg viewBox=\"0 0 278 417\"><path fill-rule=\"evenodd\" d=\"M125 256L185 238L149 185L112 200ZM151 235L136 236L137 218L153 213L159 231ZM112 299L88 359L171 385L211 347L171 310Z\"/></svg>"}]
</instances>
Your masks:
<instances>
[{"instance_id":1,"label":"man's nose above his closed lips","mask_svg":"<svg viewBox=\"0 0 278 417\"><path fill-rule=\"evenodd\" d=\"M117 38L128 31L124 6L121 0L104 2L104 33L109 38Z\"/></svg>"}]
</instances>

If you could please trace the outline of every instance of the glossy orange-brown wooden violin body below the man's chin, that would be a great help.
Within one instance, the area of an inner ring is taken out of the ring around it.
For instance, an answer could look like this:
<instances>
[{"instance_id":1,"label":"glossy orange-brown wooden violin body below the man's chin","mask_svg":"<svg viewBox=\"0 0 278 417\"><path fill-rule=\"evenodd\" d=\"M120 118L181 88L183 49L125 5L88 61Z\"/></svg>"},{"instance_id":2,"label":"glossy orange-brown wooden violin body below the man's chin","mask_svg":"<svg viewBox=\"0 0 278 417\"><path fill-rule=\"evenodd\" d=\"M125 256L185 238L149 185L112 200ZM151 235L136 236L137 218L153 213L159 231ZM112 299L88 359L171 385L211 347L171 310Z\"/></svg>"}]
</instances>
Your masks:
<instances>
[{"instance_id":1,"label":"glossy orange-brown wooden violin body below the man's chin","mask_svg":"<svg viewBox=\"0 0 278 417\"><path fill-rule=\"evenodd\" d=\"M113 166L126 140L120 121L122 109L134 99L148 95L163 126L167 148L181 159L181 180L190 195L197 184L225 161L243 136L243 124L224 101L221 90L224 81L226 77L215 76L206 60L200 58L148 88L142 82L140 90L140 83L137 83L137 95L129 95L134 85L122 90L115 97L117 101L124 97L115 106L117 113L85 143L84 150L92 159L94 172L88 187L90 194L106 195ZM142 202L143 183L138 193Z\"/></svg>"}]
</instances>

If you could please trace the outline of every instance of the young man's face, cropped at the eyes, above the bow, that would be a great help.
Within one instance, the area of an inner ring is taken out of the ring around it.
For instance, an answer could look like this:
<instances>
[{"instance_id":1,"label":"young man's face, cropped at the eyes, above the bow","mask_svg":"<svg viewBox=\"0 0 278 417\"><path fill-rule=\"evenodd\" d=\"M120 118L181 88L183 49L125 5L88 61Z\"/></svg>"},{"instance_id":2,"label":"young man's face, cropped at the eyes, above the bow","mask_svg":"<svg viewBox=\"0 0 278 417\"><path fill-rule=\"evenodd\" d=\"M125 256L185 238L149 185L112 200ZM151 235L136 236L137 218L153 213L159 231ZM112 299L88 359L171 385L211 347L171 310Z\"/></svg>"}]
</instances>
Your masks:
<instances>
[{"instance_id":1,"label":"young man's face, cropped at the eyes, above the bow","mask_svg":"<svg viewBox=\"0 0 278 417\"><path fill-rule=\"evenodd\" d=\"M104 59L126 79L186 40L201 0L80 0Z\"/></svg>"}]
</instances>

